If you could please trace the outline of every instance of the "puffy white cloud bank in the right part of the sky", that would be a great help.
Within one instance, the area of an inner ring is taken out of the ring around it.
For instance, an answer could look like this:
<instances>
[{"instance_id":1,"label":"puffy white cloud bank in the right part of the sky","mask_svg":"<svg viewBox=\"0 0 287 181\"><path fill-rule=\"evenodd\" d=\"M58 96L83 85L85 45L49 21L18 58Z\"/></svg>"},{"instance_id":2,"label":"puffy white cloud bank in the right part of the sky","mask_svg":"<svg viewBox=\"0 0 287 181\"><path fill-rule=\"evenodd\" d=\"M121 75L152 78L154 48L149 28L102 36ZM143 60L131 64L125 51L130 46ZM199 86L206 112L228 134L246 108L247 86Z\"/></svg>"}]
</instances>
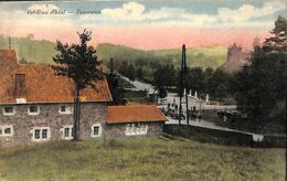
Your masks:
<instances>
[{"instance_id":1,"label":"puffy white cloud bank in the right part of the sky","mask_svg":"<svg viewBox=\"0 0 287 181\"><path fill-rule=\"evenodd\" d=\"M255 24L263 24L263 22L249 22L253 18L264 18L286 9L286 3L283 1L265 2L263 7L257 8L252 4L244 3L237 9L219 8L216 14L199 14L188 12L179 8L159 8L146 10L145 6L138 2L127 2L121 8L103 9L102 15L105 19L113 19L117 23L188 23L193 26L216 26L231 25L244 26ZM269 23L269 21L265 21Z\"/></svg>"}]
</instances>

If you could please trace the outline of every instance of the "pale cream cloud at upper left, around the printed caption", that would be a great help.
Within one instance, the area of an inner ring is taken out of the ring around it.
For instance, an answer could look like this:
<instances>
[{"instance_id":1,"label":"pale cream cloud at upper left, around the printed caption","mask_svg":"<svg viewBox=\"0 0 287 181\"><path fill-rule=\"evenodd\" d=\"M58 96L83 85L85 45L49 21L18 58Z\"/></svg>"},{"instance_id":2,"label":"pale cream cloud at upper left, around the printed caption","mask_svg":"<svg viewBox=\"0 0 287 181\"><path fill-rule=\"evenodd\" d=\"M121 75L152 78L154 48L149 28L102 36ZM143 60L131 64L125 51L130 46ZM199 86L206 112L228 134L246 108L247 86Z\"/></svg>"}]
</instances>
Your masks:
<instances>
[{"instance_id":1,"label":"pale cream cloud at upper left, around the printed caption","mask_svg":"<svg viewBox=\"0 0 287 181\"><path fill-rule=\"evenodd\" d=\"M11 10L7 9L7 6L0 4L0 34L25 36L26 34L41 34L42 32L60 31L61 29L74 28L73 20L66 17L53 15L53 14L28 14L28 10L42 10L50 11L53 9L60 9L59 7L47 4L31 4L25 10ZM11 6L11 4L10 4Z\"/></svg>"}]
</instances>

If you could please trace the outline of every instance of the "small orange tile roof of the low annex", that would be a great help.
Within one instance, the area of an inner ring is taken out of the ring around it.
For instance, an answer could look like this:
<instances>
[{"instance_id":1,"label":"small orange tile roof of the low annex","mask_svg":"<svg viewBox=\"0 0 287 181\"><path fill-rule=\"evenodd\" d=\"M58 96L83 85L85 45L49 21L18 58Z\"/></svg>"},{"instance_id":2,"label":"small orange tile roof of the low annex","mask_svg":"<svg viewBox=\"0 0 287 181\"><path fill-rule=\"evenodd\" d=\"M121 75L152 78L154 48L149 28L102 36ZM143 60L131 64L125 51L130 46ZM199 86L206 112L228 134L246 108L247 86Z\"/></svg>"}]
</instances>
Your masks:
<instances>
[{"instance_id":1,"label":"small orange tile roof of the low annex","mask_svg":"<svg viewBox=\"0 0 287 181\"><path fill-rule=\"evenodd\" d=\"M166 121L166 116L153 105L135 105L135 106L108 106L107 123L148 123Z\"/></svg>"}]
</instances>

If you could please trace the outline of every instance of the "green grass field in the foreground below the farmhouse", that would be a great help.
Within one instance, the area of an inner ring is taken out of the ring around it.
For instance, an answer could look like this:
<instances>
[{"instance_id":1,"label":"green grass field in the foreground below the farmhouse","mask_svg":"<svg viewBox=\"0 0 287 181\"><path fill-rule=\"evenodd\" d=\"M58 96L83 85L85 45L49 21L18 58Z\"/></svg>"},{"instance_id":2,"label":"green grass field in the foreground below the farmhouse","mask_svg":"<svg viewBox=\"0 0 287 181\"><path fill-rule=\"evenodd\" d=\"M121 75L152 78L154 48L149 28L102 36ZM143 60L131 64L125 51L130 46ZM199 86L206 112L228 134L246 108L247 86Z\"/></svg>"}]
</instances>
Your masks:
<instances>
[{"instance_id":1,"label":"green grass field in the foreground below the farmhouse","mask_svg":"<svg viewBox=\"0 0 287 181\"><path fill-rule=\"evenodd\" d=\"M0 180L285 180L284 149L173 137L60 141L0 151Z\"/></svg>"}]
</instances>

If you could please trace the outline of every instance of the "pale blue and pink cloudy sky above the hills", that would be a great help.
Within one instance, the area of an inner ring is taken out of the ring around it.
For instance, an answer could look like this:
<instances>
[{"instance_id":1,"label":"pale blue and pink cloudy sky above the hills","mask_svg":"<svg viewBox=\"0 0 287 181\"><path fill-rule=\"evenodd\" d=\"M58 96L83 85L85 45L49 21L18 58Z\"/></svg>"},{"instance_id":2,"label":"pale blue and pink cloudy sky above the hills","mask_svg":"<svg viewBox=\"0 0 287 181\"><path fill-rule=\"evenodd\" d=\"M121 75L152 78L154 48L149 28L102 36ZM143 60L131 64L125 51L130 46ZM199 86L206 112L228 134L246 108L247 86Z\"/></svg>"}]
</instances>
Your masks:
<instances>
[{"instance_id":1,"label":"pale blue and pink cloudy sky above the hills","mask_svg":"<svg viewBox=\"0 0 287 181\"><path fill-rule=\"evenodd\" d=\"M65 13L50 14L52 10ZM0 2L0 34L77 43L76 32L87 29L93 45L160 50L236 42L248 50L255 38L270 35L278 15L287 17L286 0Z\"/></svg>"}]
</instances>

